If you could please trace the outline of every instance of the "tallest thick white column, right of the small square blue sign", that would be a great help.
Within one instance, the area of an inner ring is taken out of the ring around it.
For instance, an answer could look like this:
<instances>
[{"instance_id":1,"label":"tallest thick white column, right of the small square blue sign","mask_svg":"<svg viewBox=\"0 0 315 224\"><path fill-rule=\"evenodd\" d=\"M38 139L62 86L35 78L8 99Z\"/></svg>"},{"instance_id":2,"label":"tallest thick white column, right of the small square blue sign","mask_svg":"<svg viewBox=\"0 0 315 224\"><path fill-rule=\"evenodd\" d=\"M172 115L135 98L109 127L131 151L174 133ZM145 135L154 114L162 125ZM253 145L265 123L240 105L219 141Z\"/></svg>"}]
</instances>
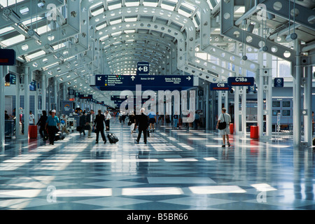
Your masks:
<instances>
[{"instance_id":1,"label":"tallest thick white column, right of the small square blue sign","mask_svg":"<svg viewBox=\"0 0 315 224\"><path fill-rule=\"evenodd\" d=\"M293 146L300 146L301 142L301 63L300 41L295 41L296 73L293 77Z\"/></svg>"}]
</instances>

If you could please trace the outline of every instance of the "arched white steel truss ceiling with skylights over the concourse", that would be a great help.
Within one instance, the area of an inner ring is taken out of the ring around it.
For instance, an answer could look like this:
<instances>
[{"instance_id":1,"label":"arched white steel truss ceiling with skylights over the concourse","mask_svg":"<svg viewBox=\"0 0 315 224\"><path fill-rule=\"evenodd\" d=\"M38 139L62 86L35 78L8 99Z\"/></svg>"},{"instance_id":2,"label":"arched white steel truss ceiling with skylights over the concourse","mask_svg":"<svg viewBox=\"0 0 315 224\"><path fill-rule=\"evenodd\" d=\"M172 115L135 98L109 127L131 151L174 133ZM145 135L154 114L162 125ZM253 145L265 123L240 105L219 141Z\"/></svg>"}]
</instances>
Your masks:
<instances>
[{"instance_id":1,"label":"arched white steel truss ceiling with skylights over the concourse","mask_svg":"<svg viewBox=\"0 0 315 224\"><path fill-rule=\"evenodd\" d=\"M272 8L269 6L271 1L261 2ZM285 0L280 2L282 6L286 3ZM303 3L297 6L300 13L304 13L307 7ZM221 7L225 10L224 7L229 4L232 6L232 20L223 13L218 20L216 15ZM151 63L151 74L190 73L213 82L234 76L235 71L221 63L197 57L197 53L207 53L219 62L235 64L247 71L257 72L259 69L257 62L244 61L239 52L230 50L233 45L244 42L228 30L228 26L234 27L235 31L243 30L235 26L235 20L245 11L238 16L235 6L248 8L248 2L222 1L218 5L216 0L27 0L8 7L20 17L20 22L0 20L0 31L3 30L0 43L3 38L18 38L12 45L1 45L17 52L20 66L29 66L31 72L46 78L57 78L58 83L69 83L77 78L88 85L90 75L95 73L134 73L134 62L139 60ZM0 15L8 8L1 8ZM270 12L282 20L287 19L274 7ZM309 10L306 12L308 14L305 15L309 15ZM37 17L41 20L36 25ZM297 18L301 31L314 31L314 23L307 21L304 25L306 20L311 20L310 17ZM32 22L23 27L21 22L27 20ZM269 36L279 29L282 20L268 22L271 28ZM36 30L35 27L41 28L39 41L25 33L31 28ZM22 37L19 37L21 34ZM256 37L250 36L254 41L247 44L259 49L258 43L255 44ZM268 39L267 43L277 46L278 52L270 52L276 57L280 57L283 50L295 56L286 44L279 43L279 38L275 41ZM50 46L54 49L51 50ZM286 59L294 62L293 57Z\"/></svg>"}]
</instances>

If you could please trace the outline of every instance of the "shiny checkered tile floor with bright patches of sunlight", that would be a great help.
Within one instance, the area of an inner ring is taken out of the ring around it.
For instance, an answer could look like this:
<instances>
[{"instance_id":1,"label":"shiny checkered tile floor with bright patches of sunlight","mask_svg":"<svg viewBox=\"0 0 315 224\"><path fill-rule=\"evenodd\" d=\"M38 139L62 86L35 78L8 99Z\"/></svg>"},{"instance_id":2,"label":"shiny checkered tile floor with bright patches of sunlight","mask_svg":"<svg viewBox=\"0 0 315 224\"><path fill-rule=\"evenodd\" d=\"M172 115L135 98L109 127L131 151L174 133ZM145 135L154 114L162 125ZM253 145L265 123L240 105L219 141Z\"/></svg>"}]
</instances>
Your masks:
<instances>
[{"instance_id":1,"label":"shiny checkered tile floor with bright patches of sunlight","mask_svg":"<svg viewBox=\"0 0 315 224\"><path fill-rule=\"evenodd\" d=\"M118 144L71 133L54 146L7 141L0 209L315 209L314 152L290 137L260 142L160 127L148 144L111 124Z\"/></svg>"}]
</instances>

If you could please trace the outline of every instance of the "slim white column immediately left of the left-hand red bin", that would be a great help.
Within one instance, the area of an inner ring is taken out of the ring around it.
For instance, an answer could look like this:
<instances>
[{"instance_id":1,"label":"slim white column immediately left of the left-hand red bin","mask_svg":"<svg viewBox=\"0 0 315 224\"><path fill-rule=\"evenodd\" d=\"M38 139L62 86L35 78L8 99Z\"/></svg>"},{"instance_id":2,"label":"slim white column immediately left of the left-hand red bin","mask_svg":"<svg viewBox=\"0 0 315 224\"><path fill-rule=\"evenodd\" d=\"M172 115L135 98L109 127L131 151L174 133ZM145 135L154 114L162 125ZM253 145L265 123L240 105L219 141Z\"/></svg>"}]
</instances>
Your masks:
<instances>
[{"instance_id":1,"label":"slim white column immediately left of the left-hand red bin","mask_svg":"<svg viewBox=\"0 0 315 224\"><path fill-rule=\"evenodd\" d=\"M29 135L29 67L25 67L24 74L24 137Z\"/></svg>"}]
</instances>

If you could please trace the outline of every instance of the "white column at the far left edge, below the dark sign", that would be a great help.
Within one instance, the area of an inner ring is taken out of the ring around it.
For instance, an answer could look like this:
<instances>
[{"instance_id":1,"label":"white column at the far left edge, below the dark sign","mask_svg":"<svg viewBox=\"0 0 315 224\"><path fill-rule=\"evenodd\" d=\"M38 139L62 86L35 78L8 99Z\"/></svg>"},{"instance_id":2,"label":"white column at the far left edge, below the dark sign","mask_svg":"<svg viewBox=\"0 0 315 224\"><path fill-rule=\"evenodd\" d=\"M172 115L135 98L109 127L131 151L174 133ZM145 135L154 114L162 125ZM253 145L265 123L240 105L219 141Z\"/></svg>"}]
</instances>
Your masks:
<instances>
[{"instance_id":1,"label":"white column at the far left edge, below the dark sign","mask_svg":"<svg viewBox=\"0 0 315 224\"><path fill-rule=\"evenodd\" d=\"M5 120L4 120L4 77L8 73L8 66L0 66L0 151L4 154Z\"/></svg>"}]
</instances>

